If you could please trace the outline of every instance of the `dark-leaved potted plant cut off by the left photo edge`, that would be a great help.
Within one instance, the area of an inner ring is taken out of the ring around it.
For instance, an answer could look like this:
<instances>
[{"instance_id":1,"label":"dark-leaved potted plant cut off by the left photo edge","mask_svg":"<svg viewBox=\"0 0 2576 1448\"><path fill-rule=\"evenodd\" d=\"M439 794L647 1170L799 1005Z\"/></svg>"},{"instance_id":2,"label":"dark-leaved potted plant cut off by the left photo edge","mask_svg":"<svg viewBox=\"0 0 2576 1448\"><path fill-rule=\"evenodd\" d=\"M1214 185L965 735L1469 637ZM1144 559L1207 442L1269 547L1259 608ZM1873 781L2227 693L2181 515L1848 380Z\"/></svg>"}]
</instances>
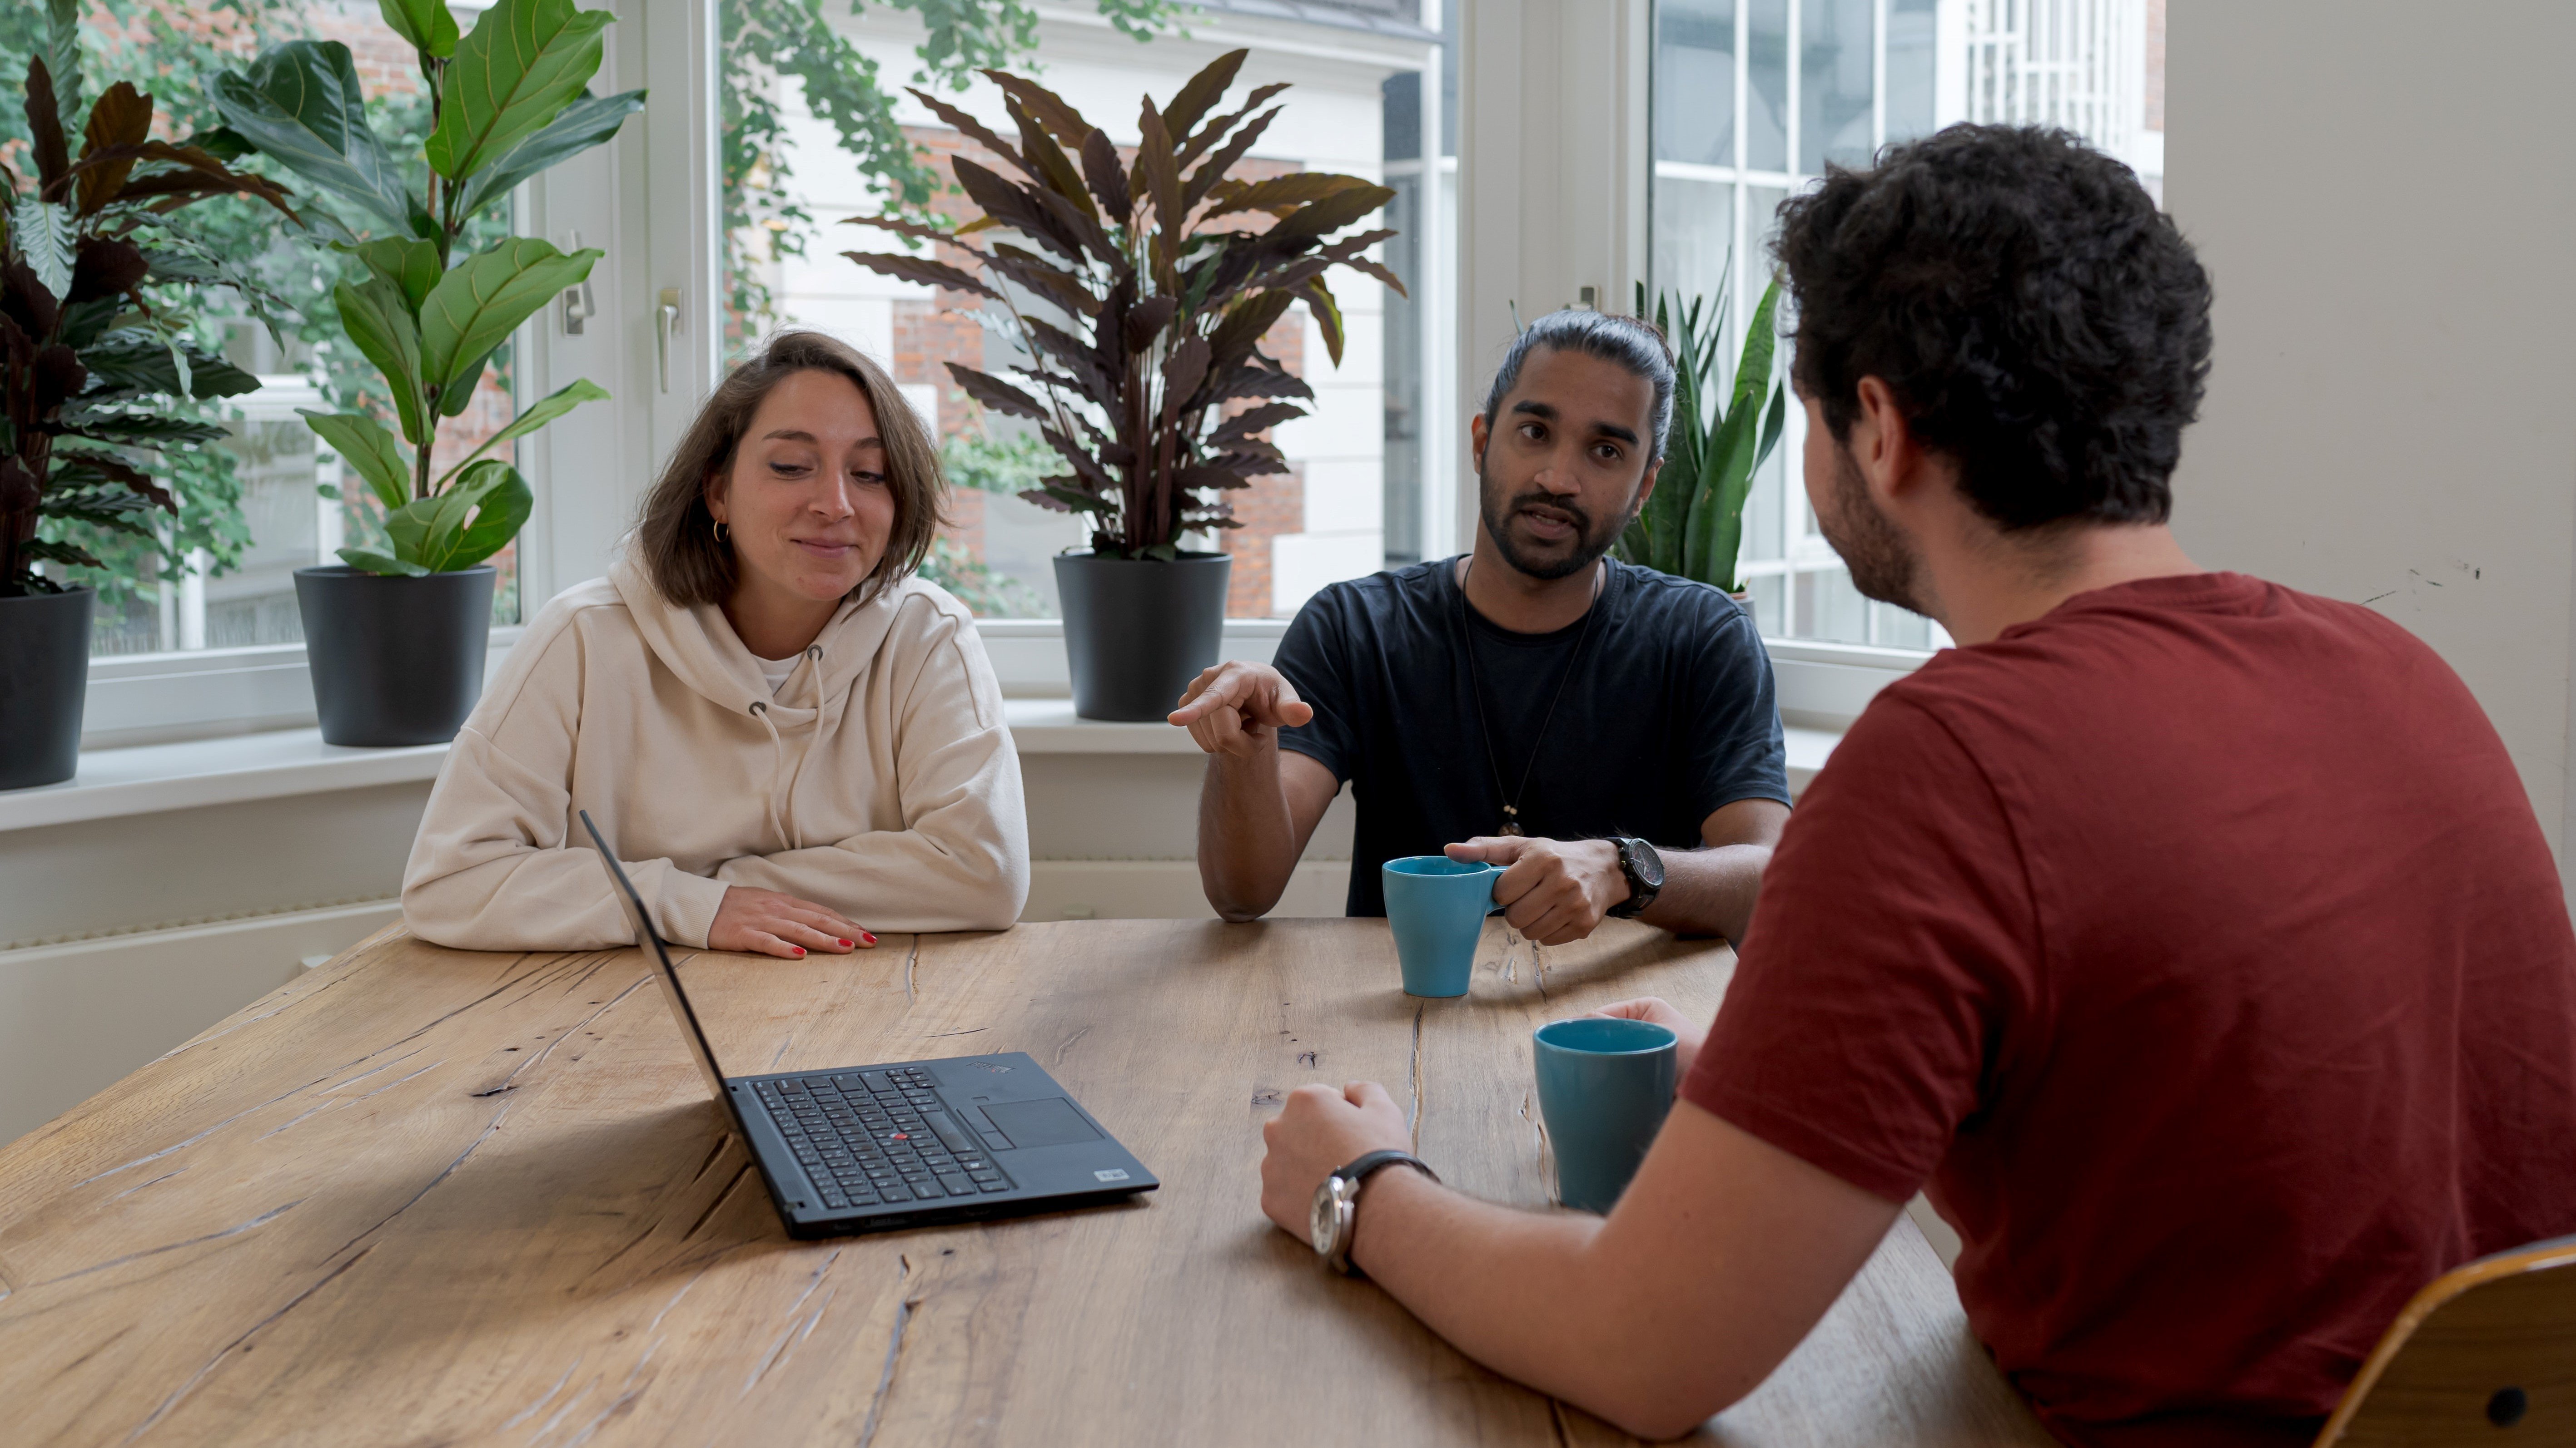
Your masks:
<instances>
[{"instance_id":1,"label":"dark-leaved potted plant cut off by the left photo edge","mask_svg":"<svg viewBox=\"0 0 2576 1448\"><path fill-rule=\"evenodd\" d=\"M95 587L46 567L106 567L39 528L85 523L155 538L178 513L137 451L204 446L224 428L170 415L173 397L237 397L258 379L201 350L185 317L152 307L155 281L222 283L219 258L170 214L209 196L252 196L294 219L286 191L229 170L198 144L152 139L152 98L111 85L82 119L75 0L52 0L26 67L21 157L0 216L0 788L72 778L90 683ZM80 155L70 142L80 137ZM242 281L258 307L258 289Z\"/></svg>"}]
</instances>

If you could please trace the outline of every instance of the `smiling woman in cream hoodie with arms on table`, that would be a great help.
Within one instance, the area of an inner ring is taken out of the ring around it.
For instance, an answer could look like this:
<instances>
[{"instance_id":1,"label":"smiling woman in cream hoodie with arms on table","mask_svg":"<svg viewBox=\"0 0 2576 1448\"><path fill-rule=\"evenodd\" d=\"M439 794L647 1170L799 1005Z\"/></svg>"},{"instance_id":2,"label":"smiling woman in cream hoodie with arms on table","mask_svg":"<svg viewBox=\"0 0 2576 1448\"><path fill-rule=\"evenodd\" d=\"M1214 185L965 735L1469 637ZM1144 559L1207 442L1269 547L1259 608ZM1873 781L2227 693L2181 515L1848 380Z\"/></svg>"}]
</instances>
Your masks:
<instances>
[{"instance_id":1,"label":"smiling woman in cream hoodie with arms on table","mask_svg":"<svg viewBox=\"0 0 2576 1448\"><path fill-rule=\"evenodd\" d=\"M412 933L631 943L580 809L680 946L1018 920L1002 691L966 608L912 577L943 487L927 428L848 345L783 332L726 376L629 554L546 603L456 737L402 879Z\"/></svg>"}]
</instances>

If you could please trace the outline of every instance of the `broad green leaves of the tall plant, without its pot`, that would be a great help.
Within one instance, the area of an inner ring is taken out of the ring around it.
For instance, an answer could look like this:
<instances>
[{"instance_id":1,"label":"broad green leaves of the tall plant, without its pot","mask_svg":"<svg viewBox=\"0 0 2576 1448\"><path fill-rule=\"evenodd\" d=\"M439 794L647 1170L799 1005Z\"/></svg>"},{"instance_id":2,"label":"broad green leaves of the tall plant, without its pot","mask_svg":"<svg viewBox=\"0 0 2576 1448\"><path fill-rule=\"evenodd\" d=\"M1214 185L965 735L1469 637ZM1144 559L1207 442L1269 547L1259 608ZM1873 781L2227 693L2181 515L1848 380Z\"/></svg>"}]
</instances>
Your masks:
<instances>
[{"instance_id":1,"label":"broad green leaves of the tall plant, without its pot","mask_svg":"<svg viewBox=\"0 0 2576 1448\"><path fill-rule=\"evenodd\" d=\"M361 276L332 291L340 327L394 397L397 443L363 412L304 412L314 433L384 502L384 549L340 549L358 569L469 569L528 520L528 482L484 456L608 392L587 379L531 405L438 472L438 430L474 399L492 353L549 299L590 276L600 250L559 252L502 237L459 255L466 227L510 188L611 137L644 93L590 95L608 10L572 0L500 0L459 39L443 0L379 0L420 57L430 137L420 165L366 124L358 70L340 41L289 41L214 82L224 131L348 209L343 245ZM410 448L410 451L404 451Z\"/></svg>"}]
</instances>

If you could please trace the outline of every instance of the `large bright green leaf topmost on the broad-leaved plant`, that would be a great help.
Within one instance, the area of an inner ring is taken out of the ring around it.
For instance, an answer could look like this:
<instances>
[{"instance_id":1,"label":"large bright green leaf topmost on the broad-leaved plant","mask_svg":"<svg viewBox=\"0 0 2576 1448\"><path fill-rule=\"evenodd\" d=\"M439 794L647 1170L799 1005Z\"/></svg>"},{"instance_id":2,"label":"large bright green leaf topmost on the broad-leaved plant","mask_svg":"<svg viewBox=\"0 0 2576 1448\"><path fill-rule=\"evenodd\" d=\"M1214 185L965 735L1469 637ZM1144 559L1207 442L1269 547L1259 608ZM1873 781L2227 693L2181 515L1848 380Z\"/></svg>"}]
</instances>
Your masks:
<instances>
[{"instance_id":1,"label":"large bright green leaf topmost on the broad-leaved plant","mask_svg":"<svg viewBox=\"0 0 2576 1448\"><path fill-rule=\"evenodd\" d=\"M464 180L554 124L598 75L611 21L572 0L500 0L484 10L438 82L430 170Z\"/></svg>"}]
</instances>

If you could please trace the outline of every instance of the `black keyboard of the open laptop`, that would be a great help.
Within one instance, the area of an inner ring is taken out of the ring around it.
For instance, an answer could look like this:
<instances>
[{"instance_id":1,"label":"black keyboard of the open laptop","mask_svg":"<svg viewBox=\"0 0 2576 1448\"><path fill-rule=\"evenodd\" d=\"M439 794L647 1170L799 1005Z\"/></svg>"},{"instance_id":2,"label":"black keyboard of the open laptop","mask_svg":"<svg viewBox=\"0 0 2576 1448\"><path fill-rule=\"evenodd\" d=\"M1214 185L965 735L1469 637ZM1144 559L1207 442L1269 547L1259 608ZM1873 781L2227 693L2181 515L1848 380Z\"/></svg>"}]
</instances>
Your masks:
<instances>
[{"instance_id":1,"label":"black keyboard of the open laptop","mask_svg":"<svg viewBox=\"0 0 2576 1448\"><path fill-rule=\"evenodd\" d=\"M907 1067L757 1082L822 1203L832 1208L976 1198L1010 1190L948 1118L930 1077Z\"/></svg>"}]
</instances>

